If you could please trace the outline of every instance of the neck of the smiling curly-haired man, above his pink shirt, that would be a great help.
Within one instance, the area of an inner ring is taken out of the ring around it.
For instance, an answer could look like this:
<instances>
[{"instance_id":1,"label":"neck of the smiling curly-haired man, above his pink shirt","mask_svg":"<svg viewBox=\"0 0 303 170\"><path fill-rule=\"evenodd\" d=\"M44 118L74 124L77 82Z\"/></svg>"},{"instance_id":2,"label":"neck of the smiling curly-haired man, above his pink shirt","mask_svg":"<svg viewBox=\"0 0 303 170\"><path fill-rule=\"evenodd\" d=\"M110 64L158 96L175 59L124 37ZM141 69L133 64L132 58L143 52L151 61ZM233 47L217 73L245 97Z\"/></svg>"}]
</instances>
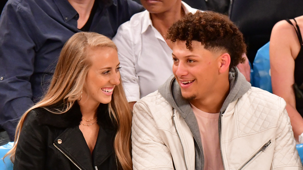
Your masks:
<instances>
[{"instance_id":1,"label":"neck of the smiling curly-haired man, above his pink shirt","mask_svg":"<svg viewBox=\"0 0 303 170\"><path fill-rule=\"evenodd\" d=\"M190 103L206 113L219 113L229 94L229 81L225 79L216 84L215 90L209 91L202 99L190 100Z\"/></svg>"}]
</instances>

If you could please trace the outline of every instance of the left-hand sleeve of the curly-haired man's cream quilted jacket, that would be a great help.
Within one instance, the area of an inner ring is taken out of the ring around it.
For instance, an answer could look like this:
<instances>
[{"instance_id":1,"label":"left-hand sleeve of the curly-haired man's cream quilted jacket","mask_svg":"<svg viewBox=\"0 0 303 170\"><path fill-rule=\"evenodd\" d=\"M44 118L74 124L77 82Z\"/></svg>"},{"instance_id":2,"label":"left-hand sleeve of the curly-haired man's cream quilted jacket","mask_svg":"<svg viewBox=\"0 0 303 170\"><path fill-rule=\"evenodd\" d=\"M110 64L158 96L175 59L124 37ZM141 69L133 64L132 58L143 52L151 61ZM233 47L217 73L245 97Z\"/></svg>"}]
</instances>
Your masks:
<instances>
[{"instance_id":1,"label":"left-hand sleeve of the curly-haired man's cream quilted jacket","mask_svg":"<svg viewBox=\"0 0 303 170\"><path fill-rule=\"evenodd\" d=\"M140 101L133 110L132 157L135 170L174 169L170 151L161 139L151 110Z\"/></svg>"}]
</instances>

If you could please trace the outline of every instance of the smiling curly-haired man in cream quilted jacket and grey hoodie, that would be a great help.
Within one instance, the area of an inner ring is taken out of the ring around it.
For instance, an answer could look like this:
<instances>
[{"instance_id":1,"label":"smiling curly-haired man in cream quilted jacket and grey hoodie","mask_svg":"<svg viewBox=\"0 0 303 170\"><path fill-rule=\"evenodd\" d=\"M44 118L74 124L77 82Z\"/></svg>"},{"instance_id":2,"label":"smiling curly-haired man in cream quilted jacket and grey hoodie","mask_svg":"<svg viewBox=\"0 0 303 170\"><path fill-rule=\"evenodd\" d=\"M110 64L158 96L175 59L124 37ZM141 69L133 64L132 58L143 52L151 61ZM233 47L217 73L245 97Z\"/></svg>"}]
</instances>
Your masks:
<instances>
[{"instance_id":1,"label":"smiling curly-haired man in cream quilted jacket and grey hoodie","mask_svg":"<svg viewBox=\"0 0 303 170\"><path fill-rule=\"evenodd\" d=\"M235 67L243 36L197 11L168 30L174 76L133 110L134 169L302 169L285 101Z\"/></svg>"}]
</instances>

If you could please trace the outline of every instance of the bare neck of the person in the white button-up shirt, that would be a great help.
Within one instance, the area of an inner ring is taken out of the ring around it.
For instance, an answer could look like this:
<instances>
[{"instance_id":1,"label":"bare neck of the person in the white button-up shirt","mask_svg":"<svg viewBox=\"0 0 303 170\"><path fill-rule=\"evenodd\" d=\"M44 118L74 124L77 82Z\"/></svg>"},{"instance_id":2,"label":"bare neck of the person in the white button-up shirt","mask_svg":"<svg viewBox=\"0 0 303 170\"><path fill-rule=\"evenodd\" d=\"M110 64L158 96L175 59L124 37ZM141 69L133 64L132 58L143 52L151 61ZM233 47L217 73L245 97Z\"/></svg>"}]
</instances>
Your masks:
<instances>
[{"instance_id":1,"label":"bare neck of the person in the white button-up shirt","mask_svg":"<svg viewBox=\"0 0 303 170\"><path fill-rule=\"evenodd\" d=\"M152 25L160 32L166 35L168 28L176 21L185 15L184 9L181 7L181 2L176 3L175 7L169 11L159 14L150 13Z\"/></svg>"}]
</instances>

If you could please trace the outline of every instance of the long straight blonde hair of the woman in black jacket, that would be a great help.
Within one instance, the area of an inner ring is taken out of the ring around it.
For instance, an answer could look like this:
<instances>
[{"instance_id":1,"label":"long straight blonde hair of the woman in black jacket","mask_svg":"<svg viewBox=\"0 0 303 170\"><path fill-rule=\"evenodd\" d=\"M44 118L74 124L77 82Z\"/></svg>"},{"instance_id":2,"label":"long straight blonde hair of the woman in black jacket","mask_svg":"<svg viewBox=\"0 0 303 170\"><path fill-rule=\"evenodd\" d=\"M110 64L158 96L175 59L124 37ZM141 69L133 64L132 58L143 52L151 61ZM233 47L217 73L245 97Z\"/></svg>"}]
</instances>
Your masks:
<instances>
[{"instance_id":1,"label":"long straight blonde hair of the woman in black jacket","mask_svg":"<svg viewBox=\"0 0 303 170\"><path fill-rule=\"evenodd\" d=\"M54 76L44 98L28 109L21 117L15 133L15 143L13 148L5 155L10 155L14 161L16 146L27 113L38 107L51 106L64 103L62 110L56 113L67 112L77 100L77 95L81 94L84 87L88 69L91 66L87 50L93 47L111 47L117 51L117 47L112 40L104 35L93 32L79 32L74 34L64 44ZM120 77L120 82L121 77ZM110 117L115 120L117 133L114 139L115 154L118 158L118 165L122 169L132 169L131 159L131 123L132 113L130 111L122 83L115 87L112 100L108 103Z\"/></svg>"}]
</instances>

